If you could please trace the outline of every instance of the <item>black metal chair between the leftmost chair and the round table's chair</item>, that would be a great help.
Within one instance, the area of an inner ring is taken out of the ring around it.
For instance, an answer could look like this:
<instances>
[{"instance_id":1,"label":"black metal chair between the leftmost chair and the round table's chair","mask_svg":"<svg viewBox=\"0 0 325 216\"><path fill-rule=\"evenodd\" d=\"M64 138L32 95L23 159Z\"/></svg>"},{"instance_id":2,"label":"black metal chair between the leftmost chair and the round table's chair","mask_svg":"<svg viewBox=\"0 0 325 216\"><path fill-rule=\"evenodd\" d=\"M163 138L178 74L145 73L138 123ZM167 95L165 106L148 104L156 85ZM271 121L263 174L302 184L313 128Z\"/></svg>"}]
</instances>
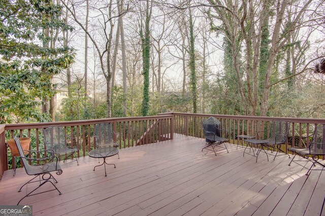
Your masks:
<instances>
[{"instance_id":1,"label":"black metal chair between the leftmost chair and the round table's chair","mask_svg":"<svg viewBox=\"0 0 325 216\"><path fill-rule=\"evenodd\" d=\"M74 155L75 158L71 159L77 161L79 165L76 155L79 149L68 146L66 131L62 125L44 126L42 130L46 149L52 149L58 157L65 155L63 162ZM70 140L73 145L73 139L70 138Z\"/></svg>"}]
</instances>

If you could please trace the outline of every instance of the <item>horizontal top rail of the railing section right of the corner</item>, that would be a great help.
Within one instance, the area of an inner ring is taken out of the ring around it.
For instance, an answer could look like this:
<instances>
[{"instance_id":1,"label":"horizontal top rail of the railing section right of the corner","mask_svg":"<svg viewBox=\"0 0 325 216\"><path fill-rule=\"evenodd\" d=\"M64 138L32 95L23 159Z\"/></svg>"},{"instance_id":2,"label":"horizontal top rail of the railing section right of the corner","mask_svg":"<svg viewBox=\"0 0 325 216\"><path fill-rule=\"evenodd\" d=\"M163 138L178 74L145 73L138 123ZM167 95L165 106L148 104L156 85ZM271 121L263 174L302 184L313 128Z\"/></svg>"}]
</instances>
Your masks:
<instances>
[{"instance_id":1,"label":"horizontal top rail of the railing section right of the corner","mask_svg":"<svg viewBox=\"0 0 325 216\"><path fill-rule=\"evenodd\" d=\"M159 113L158 115L184 115L184 116L197 116L197 117L217 117L236 120L257 120L257 121L272 121L273 119L286 119L294 123L325 123L325 118L297 118L297 117L272 117L272 116L249 116L249 115L219 115L219 114L199 114L199 113L182 113L182 112L169 112Z\"/></svg>"}]
</instances>

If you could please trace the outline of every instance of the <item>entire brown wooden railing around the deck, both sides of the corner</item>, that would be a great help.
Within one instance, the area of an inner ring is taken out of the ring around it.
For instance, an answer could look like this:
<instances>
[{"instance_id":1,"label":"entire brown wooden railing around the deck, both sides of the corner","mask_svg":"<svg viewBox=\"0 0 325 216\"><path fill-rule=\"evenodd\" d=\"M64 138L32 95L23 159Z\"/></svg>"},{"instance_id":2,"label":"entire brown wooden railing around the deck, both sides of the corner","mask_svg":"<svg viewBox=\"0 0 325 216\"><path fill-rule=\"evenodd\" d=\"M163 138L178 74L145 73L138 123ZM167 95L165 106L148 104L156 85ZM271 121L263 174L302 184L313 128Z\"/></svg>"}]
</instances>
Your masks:
<instances>
[{"instance_id":1,"label":"entire brown wooden railing around the deck, both sides of the corner","mask_svg":"<svg viewBox=\"0 0 325 216\"><path fill-rule=\"evenodd\" d=\"M259 117L259 116L233 116L211 115L193 113L163 113L149 117L127 117L94 119L82 121L46 122L30 124L7 124L0 125L0 178L8 169L7 148L5 145L5 132L11 137L31 137L33 147L44 148L42 127L45 125L62 124L67 128L71 137L76 138L76 144L80 149L79 156L85 156L87 151L94 148L93 125L108 121L113 123L114 132L118 134L117 142L120 148L145 145L149 143L173 139L173 133L203 138L202 121L210 116L220 120L221 126L229 133L224 134L231 143L237 144L237 135L256 135L261 129L269 129L273 119L290 120L289 137L308 136L313 132L314 124L325 123L325 119L315 118L282 118L282 117ZM267 138L269 134L259 134L259 138ZM8 135L7 135L8 136ZM8 138L8 137L7 137ZM308 144L308 140L307 140ZM300 144L302 146L302 144ZM287 150L288 143L283 150Z\"/></svg>"}]
</instances>

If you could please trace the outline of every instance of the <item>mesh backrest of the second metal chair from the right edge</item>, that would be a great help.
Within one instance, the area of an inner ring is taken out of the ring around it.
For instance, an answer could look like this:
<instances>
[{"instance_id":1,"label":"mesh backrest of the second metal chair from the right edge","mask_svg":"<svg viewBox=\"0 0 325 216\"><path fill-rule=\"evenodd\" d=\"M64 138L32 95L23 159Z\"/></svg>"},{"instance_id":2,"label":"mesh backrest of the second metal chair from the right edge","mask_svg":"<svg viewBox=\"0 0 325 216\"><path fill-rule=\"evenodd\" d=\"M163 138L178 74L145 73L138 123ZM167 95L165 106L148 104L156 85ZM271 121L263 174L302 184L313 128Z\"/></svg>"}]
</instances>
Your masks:
<instances>
[{"instance_id":1,"label":"mesh backrest of the second metal chair from the right edge","mask_svg":"<svg viewBox=\"0 0 325 216\"><path fill-rule=\"evenodd\" d=\"M269 143L283 144L288 139L290 128L289 120L273 120L270 131Z\"/></svg>"}]
</instances>

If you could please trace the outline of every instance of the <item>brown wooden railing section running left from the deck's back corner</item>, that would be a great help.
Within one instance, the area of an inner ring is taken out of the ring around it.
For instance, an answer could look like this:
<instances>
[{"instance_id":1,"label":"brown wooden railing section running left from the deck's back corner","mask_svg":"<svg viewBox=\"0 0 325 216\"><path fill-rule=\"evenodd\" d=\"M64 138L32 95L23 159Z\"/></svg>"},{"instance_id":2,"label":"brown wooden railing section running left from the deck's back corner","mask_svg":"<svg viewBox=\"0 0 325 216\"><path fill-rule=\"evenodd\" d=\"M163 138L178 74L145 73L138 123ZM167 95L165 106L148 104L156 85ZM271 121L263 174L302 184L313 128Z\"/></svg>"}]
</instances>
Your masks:
<instances>
[{"instance_id":1,"label":"brown wooden railing section running left from the deck's back corner","mask_svg":"<svg viewBox=\"0 0 325 216\"><path fill-rule=\"evenodd\" d=\"M44 149L42 127L61 124L66 128L67 135L75 138L75 144L80 150L78 157L80 157L87 155L88 151L95 148L93 125L100 122L113 124L113 130L118 135L115 140L119 143L119 148L173 139L174 134L173 115L0 125L0 180L4 171L8 169L6 147L8 139L15 136L30 137L33 150Z\"/></svg>"}]
</instances>

